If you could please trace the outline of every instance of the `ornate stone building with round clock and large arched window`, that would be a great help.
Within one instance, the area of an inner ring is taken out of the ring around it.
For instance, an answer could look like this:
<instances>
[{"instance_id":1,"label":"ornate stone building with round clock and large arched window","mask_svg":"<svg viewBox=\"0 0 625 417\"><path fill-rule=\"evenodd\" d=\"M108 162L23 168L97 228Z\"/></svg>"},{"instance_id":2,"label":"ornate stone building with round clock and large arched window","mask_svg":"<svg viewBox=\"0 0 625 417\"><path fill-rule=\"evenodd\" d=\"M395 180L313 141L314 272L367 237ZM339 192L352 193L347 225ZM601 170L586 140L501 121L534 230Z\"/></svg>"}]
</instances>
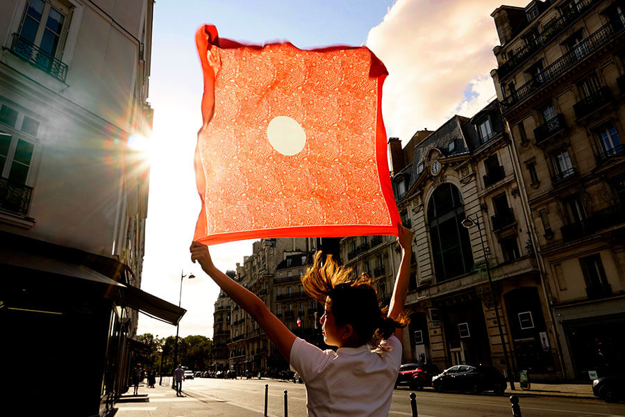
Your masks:
<instances>
[{"instance_id":1,"label":"ornate stone building with round clock and large arched window","mask_svg":"<svg viewBox=\"0 0 625 417\"><path fill-rule=\"evenodd\" d=\"M560 378L499 101L419 131L404 148L390 138L389 154L401 221L414 235L403 361L443 369L484 363L514 374L531 368L536 380ZM346 264L367 272L387 304L400 261L395 238L341 243Z\"/></svg>"}]
</instances>

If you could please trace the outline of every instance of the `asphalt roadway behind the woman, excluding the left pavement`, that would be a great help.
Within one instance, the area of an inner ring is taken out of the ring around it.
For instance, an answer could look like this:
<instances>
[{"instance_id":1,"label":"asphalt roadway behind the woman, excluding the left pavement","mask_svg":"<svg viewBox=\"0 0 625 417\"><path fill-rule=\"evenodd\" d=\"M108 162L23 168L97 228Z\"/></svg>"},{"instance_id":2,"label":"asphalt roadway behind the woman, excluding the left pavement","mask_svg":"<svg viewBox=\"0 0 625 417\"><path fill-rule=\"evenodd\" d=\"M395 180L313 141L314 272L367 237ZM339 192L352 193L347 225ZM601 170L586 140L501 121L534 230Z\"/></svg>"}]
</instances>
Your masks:
<instances>
[{"instance_id":1,"label":"asphalt roadway behind the woman, excluding the left pavement","mask_svg":"<svg viewBox=\"0 0 625 417\"><path fill-rule=\"evenodd\" d=\"M288 391L288 416L306 417L306 389L276 379L210 379L185 381L183 391L200 401L236 404L250 411L263 412L265 384L268 390L269 416L284 416L284 391ZM411 391L396 389L389 412L390 417L411 416ZM625 416L625 404L607 404L601 400L577 398L520 398L523 417L612 417ZM419 417L510 417L510 400L493 394L468 395L417 391Z\"/></svg>"}]
</instances>

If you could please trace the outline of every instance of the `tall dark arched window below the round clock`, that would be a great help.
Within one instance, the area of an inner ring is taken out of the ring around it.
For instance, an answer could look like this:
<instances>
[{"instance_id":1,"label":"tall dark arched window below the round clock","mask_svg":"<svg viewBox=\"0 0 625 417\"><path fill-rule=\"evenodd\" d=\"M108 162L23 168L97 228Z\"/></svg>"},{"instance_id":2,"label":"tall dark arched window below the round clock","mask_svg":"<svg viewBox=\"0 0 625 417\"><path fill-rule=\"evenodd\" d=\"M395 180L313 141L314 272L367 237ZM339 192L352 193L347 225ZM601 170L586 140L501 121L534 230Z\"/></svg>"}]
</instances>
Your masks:
<instances>
[{"instance_id":1,"label":"tall dark arched window below the round clock","mask_svg":"<svg viewBox=\"0 0 625 417\"><path fill-rule=\"evenodd\" d=\"M437 281L444 281L471 270L473 254L469 232L462 227L465 208L460 190L444 183L434 190L428 203L428 222Z\"/></svg>"}]
</instances>

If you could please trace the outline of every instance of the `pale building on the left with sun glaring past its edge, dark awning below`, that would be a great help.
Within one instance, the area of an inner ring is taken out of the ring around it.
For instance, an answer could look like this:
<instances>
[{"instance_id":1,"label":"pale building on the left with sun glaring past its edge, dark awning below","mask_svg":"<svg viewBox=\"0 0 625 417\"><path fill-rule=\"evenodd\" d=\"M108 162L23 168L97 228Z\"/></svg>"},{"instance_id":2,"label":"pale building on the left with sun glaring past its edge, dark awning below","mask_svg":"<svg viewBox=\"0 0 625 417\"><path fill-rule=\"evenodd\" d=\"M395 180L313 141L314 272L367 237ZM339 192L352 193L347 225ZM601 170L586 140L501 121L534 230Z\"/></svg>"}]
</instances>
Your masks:
<instances>
[{"instance_id":1,"label":"pale building on the left with sun glaring past its edge, dark awning below","mask_svg":"<svg viewBox=\"0 0 625 417\"><path fill-rule=\"evenodd\" d=\"M115 414L138 310L184 310L140 290L149 165L153 1L0 2L2 392L38 415ZM32 384L33 375L53 376ZM24 386L28 386L25 389Z\"/></svg>"}]
</instances>

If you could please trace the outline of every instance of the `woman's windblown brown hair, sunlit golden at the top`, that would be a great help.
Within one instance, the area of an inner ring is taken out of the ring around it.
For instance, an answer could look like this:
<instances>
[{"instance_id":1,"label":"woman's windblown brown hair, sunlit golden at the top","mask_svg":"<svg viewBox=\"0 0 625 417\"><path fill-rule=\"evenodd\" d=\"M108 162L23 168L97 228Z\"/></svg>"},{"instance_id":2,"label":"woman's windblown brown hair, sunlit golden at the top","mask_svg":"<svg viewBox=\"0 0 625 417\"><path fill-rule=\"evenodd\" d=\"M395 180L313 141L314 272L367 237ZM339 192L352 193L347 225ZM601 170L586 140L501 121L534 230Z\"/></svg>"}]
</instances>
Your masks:
<instances>
[{"instance_id":1,"label":"woman's windblown brown hair, sunlit golden at the top","mask_svg":"<svg viewBox=\"0 0 625 417\"><path fill-rule=\"evenodd\" d=\"M339 266L332 255L327 255L322 263L322 252L318 251L313 266L301 277L301 285L317 302L325 304L326 297L330 298L336 324L351 325L360 345L379 345L381 340L390 338L395 329L406 327L408 320L404 314L397 321L387 317L388 308L382 308L367 274L356 279L351 277L351 268Z\"/></svg>"}]
</instances>

